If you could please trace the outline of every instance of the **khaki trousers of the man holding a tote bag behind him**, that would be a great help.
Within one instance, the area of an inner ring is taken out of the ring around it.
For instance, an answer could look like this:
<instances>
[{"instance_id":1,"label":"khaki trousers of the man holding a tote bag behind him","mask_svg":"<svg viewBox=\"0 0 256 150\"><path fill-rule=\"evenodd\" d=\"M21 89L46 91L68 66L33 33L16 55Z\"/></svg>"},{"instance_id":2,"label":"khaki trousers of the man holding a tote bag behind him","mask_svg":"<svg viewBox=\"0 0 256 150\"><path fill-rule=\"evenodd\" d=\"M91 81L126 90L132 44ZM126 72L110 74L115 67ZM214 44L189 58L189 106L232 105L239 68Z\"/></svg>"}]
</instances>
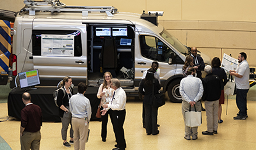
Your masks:
<instances>
[{"instance_id":1,"label":"khaki trousers of the man holding a tote bag behind him","mask_svg":"<svg viewBox=\"0 0 256 150\"><path fill-rule=\"evenodd\" d=\"M198 132L197 132L197 128L198 126L196 127L189 127L189 126L186 126L186 116L185 116L185 112L188 112L189 111L189 103L187 101L182 101L182 115L183 115L183 119L184 119L184 124L185 124L185 135L191 135L191 136L194 136L194 135L197 135ZM201 112L202 108L201 108L201 102L200 100L196 102L196 111L197 112ZM194 107L191 107L191 111L195 111L195 108Z\"/></svg>"}]
</instances>

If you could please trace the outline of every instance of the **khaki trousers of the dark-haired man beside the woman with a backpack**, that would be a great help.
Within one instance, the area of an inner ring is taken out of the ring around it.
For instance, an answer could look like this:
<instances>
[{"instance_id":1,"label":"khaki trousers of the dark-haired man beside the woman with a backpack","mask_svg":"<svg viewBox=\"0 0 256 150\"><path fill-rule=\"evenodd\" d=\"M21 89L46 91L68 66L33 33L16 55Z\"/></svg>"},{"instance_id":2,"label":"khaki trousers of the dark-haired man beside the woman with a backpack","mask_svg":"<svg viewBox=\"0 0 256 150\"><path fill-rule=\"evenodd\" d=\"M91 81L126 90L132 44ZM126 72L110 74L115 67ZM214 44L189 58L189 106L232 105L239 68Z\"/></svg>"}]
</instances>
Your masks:
<instances>
[{"instance_id":1,"label":"khaki trousers of the dark-haired man beside the woman with a backpack","mask_svg":"<svg viewBox=\"0 0 256 150\"><path fill-rule=\"evenodd\" d=\"M87 125L85 123L87 122ZM85 118L72 117L72 124L74 130L74 149L84 150L85 143L88 137L88 126L89 123Z\"/></svg>"}]
</instances>

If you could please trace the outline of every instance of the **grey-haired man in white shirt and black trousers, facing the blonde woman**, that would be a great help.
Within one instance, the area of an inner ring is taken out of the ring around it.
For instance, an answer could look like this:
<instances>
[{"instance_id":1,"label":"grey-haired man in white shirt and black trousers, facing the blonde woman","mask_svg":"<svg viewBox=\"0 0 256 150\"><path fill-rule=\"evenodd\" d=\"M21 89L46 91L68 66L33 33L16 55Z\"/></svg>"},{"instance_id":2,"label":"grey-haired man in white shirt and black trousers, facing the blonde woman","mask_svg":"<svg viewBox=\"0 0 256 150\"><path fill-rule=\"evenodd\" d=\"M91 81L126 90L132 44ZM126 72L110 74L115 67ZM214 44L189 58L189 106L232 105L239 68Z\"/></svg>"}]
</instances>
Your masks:
<instances>
[{"instance_id":1,"label":"grey-haired man in white shirt and black trousers, facing the blonde woman","mask_svg":"<svg viewBox=\"0 0 256 150\"><path fill-rule=\"evenodd\" d=\"M116 148L113 150L123 150L126 148L126 142L124 137L124 120L125 120L125 105L126 105L126 94L122 89L120 81L118 79L111 79L110 84L112 89L115 89L112 101L109 104L104 104L104 110L102 114L106 113L106 110L111 109L111 117L113 119L113 128L116 136Z\"/></svg>"}]
</instances>

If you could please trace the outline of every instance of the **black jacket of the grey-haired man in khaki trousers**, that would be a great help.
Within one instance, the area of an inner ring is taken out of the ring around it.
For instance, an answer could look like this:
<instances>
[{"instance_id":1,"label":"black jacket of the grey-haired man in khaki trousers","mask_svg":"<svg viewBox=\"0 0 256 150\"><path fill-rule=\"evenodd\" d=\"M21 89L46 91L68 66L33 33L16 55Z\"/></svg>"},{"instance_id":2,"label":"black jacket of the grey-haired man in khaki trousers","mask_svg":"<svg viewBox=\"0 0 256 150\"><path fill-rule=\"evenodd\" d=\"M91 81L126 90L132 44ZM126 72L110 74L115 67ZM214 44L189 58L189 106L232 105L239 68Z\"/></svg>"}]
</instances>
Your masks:
<instances>
[{"instance_id":1,"label":"black jacket of the grey-haired man in khaki trousers","mask_svg":"<svg viewBox=\"0 0 256 150\"><path fill-rule=\"evenodd\" d=\"M203 79L204 94L202 100L216 101L220 99L221 94L221 81L218 75L212 73L206 75Z\"/></svg>"}]
</instances>

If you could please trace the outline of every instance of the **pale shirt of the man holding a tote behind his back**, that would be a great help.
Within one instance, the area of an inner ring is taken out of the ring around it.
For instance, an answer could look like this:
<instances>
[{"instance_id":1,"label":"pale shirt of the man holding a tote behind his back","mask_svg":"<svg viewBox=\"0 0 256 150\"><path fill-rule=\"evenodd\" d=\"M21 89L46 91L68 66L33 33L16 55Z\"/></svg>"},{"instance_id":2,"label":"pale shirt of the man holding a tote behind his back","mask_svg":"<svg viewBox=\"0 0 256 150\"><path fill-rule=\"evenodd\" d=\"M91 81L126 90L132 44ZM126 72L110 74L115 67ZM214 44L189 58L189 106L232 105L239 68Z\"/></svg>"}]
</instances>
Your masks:
<instances>
[{"instance_id":1,"label":"pale shirt of the man holding a tote behind his back","mask_svg":"<svg viewBox=\"0 0 256 150\"><path fill-rule=\"evenodd\" d=\"M188 75L188 77L183 78L180 81L180 94L182 100L197 102L200 100L204 93L204 87L201 79L193 77L193 75Z\"/></svg>"}]
</instances>

